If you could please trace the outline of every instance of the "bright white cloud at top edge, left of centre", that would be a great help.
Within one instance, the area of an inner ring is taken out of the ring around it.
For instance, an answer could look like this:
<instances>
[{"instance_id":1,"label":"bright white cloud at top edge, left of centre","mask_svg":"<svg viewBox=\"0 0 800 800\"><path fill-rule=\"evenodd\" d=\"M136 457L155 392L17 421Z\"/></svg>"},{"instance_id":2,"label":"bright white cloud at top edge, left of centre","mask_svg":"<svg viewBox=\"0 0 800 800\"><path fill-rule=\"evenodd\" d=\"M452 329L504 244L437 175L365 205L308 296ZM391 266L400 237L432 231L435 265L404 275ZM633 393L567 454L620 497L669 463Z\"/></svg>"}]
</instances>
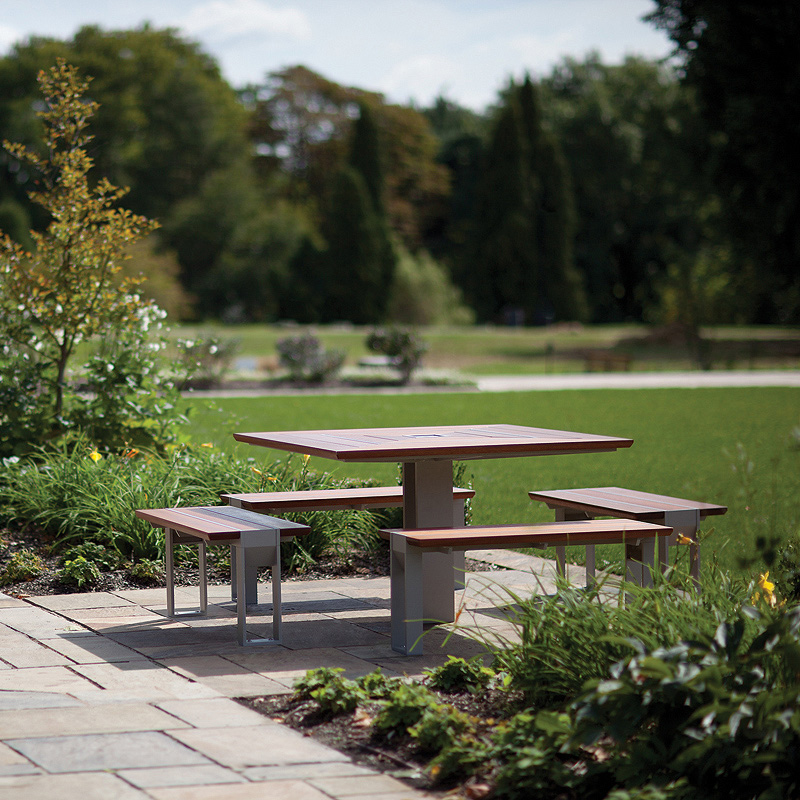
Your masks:
<instances>
[{"instance_id":1,"label":"bright white cloud at top edge, left of centre","mask_svg":"<svg viewBox=\"0 0 800 800\"><path fill-rule=\"evenodd\" d=\"M274 8L263 0L210 0L192 8L178 24L190 35L204 39L254 34L302 40L311 34L305 12Z\"/></svg>"}]
</instances>

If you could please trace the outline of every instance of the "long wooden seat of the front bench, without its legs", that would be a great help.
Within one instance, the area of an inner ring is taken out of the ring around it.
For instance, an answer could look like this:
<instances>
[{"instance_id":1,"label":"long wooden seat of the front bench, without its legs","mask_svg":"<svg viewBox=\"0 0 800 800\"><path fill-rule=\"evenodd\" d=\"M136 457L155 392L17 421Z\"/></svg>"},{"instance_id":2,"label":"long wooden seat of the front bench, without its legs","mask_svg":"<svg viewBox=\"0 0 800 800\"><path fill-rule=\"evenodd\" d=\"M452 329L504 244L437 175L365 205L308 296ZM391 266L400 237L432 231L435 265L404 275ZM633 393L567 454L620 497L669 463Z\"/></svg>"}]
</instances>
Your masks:
<instances>
[{"instance_id":1,"label":"long wooden seat of the front bench, without its legs","mask_svg":"<svg viewBox=\"0 0 800 800\"><path fill-rule=\"evenodd\" d=\"M469 528L426 528L389 530L401 534L417 547L482 549L491 547L614 544L634 542L654 536L668 536L672 528L637 520L586 520L548 522L540 525L476 525Z\"/></svg>"}]
</instances>

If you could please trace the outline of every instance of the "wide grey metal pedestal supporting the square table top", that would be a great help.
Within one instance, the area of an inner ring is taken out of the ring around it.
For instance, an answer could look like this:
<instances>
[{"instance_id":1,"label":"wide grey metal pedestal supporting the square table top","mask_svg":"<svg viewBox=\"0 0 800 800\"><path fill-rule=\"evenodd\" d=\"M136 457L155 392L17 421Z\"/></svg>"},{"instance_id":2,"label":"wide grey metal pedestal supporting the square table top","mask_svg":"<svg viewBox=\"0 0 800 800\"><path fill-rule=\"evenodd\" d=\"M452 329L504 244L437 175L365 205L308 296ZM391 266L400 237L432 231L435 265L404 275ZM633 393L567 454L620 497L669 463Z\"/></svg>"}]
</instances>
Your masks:
<instances>
[{"instance_id":1,"label":"wide grey metal pedestal supporting the square table top","mask_svg":"<svg viewBox=\"0 0 800 800\"><path fill-rule=\"evenodd\" d=\"M453 462L403 464L403 527L453 527ZM455 619L452 553L425 553L422 559L423 617L435 622Z\"/></svg>"}]
</instances>

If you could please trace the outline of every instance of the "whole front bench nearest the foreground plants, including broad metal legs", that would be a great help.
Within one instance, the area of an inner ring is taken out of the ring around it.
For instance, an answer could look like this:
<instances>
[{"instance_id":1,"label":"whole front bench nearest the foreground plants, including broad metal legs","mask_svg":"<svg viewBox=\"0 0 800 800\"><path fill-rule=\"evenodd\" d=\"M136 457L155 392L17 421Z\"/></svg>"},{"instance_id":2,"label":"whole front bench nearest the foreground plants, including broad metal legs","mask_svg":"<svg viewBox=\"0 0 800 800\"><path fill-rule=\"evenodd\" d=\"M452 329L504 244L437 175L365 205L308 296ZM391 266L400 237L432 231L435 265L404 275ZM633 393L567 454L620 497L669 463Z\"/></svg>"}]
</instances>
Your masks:
<instances>
[{"instance_id":1,"label":"whole front bench nearest the foreground plants, including broad metal legs","mask_svg":"<svg viewBox=\"0 0 800 800\"><path fill-rule=\"evenodd\" d=\"M426 551L623 544L626 578L640 586L652 586L656 539L669 536L672 529L637 520L585 520L386 533L391 541L392 649L406 655L421 655L423 623L436 622L423 619L422 556Z\"/></svg>"}]
</instances>

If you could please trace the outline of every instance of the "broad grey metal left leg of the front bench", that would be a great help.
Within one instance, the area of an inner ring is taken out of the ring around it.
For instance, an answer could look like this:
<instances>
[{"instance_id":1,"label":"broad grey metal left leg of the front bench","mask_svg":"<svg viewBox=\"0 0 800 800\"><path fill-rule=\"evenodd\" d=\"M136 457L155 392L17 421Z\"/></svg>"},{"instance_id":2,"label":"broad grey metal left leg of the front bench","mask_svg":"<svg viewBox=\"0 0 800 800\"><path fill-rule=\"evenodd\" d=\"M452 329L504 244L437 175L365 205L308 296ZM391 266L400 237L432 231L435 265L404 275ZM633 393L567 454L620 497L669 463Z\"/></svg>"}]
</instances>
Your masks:
<instances>
[{"instance_id":1,"label":"broad grey metal left leg of the front bench","mask_svg":"<svg viewBox=\"0 0 800 800\"><path fill-rule=\"evenodd\" d=\"M401 536L391 542L392 650L422 655L422 552Z\"/></svg>"}]
</instances>

